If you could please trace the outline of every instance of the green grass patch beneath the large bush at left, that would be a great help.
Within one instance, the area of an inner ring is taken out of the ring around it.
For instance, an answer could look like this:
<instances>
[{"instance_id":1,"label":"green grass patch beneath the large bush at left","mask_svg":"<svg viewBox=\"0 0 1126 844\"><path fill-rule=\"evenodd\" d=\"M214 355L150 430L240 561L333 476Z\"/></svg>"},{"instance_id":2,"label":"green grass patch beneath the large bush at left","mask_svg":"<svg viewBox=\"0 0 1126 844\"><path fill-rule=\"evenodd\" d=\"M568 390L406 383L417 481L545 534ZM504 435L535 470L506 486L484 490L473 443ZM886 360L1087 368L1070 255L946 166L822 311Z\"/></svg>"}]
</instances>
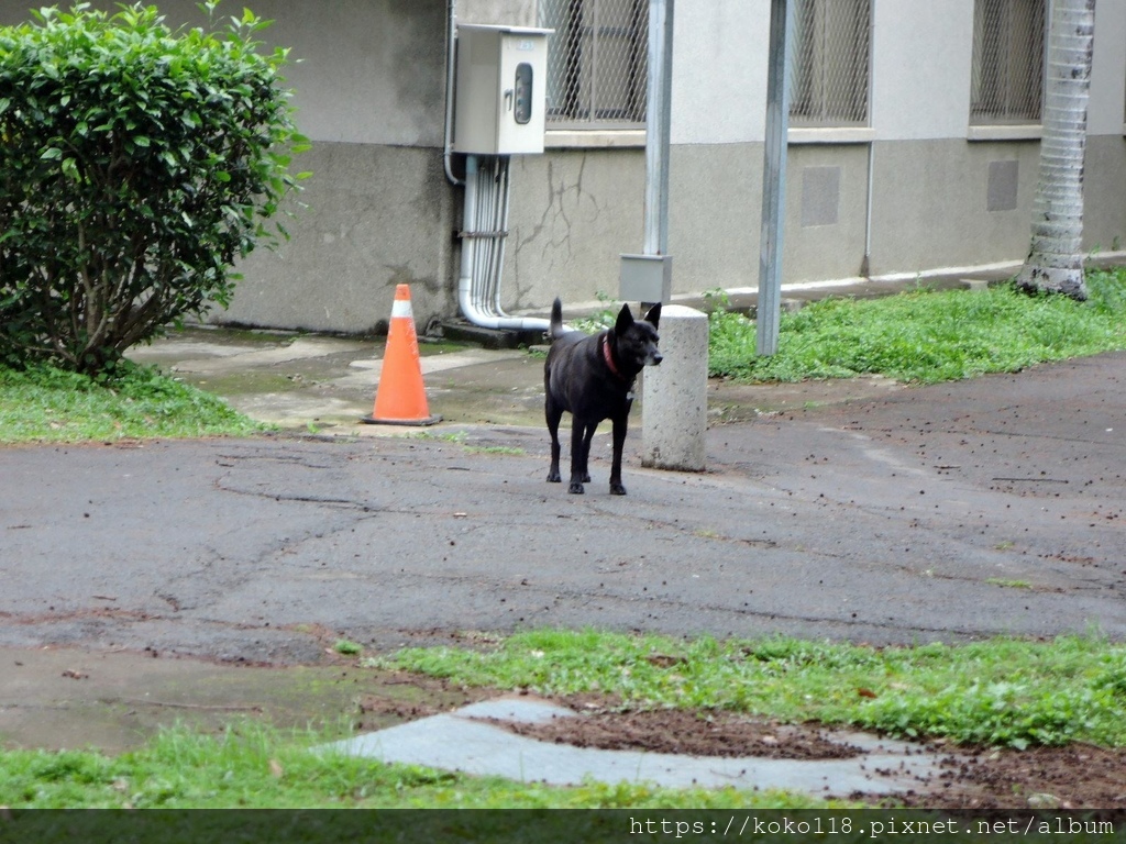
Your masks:
<instances>
[{"instance_id":1,"label":"green grass patch beneath the large bush at left","mask_svg":"<svg viewBox=\"0 0 1126 844\"><path fill-rule=\"evenodd\" d=\"M247 436L266 430L221 398L148 367L95 380L0 367L0 442Z\"/></svg>"}]
</instances>

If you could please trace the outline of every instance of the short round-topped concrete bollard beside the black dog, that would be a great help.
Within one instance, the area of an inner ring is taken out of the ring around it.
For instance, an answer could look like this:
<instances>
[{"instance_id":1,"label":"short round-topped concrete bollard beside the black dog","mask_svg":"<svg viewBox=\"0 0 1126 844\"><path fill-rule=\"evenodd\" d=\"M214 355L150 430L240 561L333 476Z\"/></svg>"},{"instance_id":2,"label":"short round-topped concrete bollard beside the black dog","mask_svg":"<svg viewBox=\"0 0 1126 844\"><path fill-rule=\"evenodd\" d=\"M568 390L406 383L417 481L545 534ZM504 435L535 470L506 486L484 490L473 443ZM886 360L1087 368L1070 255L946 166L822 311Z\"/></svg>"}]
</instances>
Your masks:
<instances>
[{"instance_id":1,"label":"short round-topped concrete bollard beside the black dog","mask_svg":"<svg viewBox=\"0 0 1126 844\"><path fill-rule=\"evenodd\" d=\"M661 308L660 366L642 379L642 465L703 472L707 431L707 315Z\"/></svg>"}]
</instances>

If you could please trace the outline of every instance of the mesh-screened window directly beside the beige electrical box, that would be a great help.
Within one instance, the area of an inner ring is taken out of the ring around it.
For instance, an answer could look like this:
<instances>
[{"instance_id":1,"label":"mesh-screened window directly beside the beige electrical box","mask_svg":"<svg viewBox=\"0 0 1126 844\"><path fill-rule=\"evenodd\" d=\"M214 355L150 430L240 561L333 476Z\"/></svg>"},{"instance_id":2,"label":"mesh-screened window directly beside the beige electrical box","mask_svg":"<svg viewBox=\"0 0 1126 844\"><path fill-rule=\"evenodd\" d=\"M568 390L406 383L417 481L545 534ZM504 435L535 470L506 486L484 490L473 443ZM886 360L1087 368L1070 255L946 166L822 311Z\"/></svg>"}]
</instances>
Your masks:
<instances>
[{"instance_id":1,"label":"mesh-screened window directly beside the beige electrical box","mask_svg":"<svg viewBox=\"0 0 1126 844\"><path fill-rule=\"evenodd\" d=\"M649 0L539 0L539 21L547 128L644 127Z\"/></svg>"}]
</instances>

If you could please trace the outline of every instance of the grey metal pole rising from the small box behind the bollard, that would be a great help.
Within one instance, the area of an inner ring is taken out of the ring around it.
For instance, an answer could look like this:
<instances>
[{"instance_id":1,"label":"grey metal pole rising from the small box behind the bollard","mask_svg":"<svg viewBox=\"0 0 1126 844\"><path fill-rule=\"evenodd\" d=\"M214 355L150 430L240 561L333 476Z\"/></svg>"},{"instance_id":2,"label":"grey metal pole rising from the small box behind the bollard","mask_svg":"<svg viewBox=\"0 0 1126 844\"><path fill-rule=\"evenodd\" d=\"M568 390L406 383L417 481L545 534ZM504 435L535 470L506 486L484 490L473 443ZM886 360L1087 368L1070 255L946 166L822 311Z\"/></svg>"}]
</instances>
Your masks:
<instances>
[{"instance_id":1,"label":"grey metal pole rising from the small box behind the bollard","mask_svg":"<svg viewBox=\"0 0 1126 844\"><path fill-rule=\"evenodd\" d=\"M645 114L645 243L647 255L669 253L669 132L672 123L674 0L649 2L649 84Z\"/></svg>"}]
</instances>

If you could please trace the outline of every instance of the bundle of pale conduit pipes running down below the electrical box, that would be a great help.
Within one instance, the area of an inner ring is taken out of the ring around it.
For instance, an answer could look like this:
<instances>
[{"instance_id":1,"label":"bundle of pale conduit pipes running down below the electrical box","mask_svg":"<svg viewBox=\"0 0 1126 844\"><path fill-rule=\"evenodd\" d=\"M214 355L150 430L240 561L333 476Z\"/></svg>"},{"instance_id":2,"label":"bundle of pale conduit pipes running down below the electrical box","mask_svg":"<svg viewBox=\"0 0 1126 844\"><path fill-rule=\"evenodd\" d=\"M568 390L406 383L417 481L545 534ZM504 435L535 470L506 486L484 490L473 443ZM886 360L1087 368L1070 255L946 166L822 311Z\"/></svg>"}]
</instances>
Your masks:
<instances>
[{"instance_id":1,"label":"bundle of pale conduit pipes running down below the electrical box","mask_svg":"<svg viewBox=\"0 0 1126 844\"><path fill-rule=\"evenodd\" d=\"M480 156L467 155L458 305L466 320L483 329L547 331L547 320L509 316L500 307L508 198L508 160L490 159L488 165L481 167Z\"/></svg>"}]
</instances>

